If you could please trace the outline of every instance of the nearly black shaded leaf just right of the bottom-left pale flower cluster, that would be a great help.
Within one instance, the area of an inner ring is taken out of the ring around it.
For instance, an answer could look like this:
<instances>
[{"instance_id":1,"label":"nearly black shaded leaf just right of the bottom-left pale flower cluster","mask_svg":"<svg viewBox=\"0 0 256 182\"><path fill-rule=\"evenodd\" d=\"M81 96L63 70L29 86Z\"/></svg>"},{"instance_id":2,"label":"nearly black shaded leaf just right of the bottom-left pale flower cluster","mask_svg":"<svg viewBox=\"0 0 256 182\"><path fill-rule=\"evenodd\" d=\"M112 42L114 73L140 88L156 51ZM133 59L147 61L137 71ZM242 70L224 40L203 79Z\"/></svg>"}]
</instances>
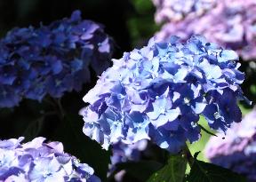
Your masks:
<instances>
[{"instance_id":1,"label":"nearly black shaded leaf just right of the bottom-left pale flower cluster","mask_svg":"<svg viewBox=\"0 0 256 182\"><path fill-rule=\"evenodd\" d=\"M106 181L110 152L83 133L84 121L80 115L66 115L55 131L54 140L61 141L65 152L89 164L102 181Z\"/></svg>"}]
</instances>

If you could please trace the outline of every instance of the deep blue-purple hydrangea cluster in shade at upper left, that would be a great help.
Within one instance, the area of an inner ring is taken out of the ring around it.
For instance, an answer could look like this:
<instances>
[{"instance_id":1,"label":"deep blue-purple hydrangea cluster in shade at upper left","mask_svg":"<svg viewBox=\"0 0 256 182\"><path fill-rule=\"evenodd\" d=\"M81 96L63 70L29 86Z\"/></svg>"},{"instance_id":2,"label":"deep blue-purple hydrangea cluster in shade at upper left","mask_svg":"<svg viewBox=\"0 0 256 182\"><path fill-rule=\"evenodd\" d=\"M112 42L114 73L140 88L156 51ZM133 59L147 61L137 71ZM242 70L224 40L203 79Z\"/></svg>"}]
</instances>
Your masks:
<instances>
[{"instance_id":1,"label":"deep blue-purple hydrangea cluster in shade at upper left","mask_svg":"<svg viewBox=\"0 0 256 182\"><path fill-rule=\"evenodd\" d=\"M14 28L0 40L0 107L80 91L90 81L89 67L100 75L111 52L103 28L82 20L79 11L48 26Z\"/></svg>"}]
</instances>

